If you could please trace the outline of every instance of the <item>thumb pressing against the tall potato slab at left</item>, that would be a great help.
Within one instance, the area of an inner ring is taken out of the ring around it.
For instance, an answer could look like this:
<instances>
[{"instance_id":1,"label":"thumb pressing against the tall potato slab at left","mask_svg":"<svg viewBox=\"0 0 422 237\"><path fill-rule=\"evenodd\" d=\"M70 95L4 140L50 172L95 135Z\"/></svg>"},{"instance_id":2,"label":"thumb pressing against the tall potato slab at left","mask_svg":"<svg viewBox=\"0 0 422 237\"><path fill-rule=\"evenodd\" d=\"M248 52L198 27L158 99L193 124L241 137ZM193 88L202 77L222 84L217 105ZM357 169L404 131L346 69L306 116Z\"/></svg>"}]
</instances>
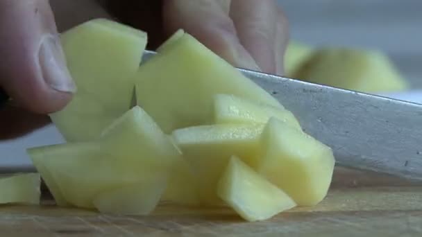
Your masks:
<instances>
[{"instance_id":1,"label":"thumb pressing against the tall potato slab at left","mask_svg":"<svg viewBox=\"0 0 422 237\"><path fill-rule=\"evenodd\" d=\"M0 0L0 86L37 113L64 107L76 86L48 0Z\"/></svg>"}]
</instances>

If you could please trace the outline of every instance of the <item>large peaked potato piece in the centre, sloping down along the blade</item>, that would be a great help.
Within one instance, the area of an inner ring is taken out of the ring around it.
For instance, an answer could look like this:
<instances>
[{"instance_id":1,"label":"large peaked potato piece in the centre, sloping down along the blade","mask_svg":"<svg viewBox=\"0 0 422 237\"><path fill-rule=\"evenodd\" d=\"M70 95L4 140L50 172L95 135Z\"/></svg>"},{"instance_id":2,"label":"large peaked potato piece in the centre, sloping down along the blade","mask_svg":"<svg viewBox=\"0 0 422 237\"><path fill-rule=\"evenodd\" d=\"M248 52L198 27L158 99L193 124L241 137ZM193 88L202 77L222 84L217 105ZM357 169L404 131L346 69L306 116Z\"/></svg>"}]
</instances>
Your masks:
<instances>
[{"instance_id":1,"label":"large peaked potato piece in the centre, sloping down along the blade","mask_svg":"<svg viewBox=\"0 0 422 237\"><path fill-rule=\"evenodd\" d=\"M136 78L138 105L166 133L212 124L215 94L233 94L281 106L267 91L187 33L169 50L142 64Z\"/></svg>"}]
</instances>

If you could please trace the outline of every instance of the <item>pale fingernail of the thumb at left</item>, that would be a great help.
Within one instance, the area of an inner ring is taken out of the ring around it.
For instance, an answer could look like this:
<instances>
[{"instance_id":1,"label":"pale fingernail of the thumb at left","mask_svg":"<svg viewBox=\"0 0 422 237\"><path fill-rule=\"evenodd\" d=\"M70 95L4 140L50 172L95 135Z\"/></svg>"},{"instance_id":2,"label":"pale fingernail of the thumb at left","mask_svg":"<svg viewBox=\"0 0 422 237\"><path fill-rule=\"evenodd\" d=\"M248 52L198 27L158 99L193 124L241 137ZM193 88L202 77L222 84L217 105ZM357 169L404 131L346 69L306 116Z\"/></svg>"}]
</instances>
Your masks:
<instances>
[{"instance_id":1,"label":"pale fingernail of the thumb at left","mask_svg":"<svg viewBox=\"0 0 422 237\"><path fill-rule=\"evenodd\" d=\"M43 37L38 53L42 78L51 88L62 92L76 92L76 85L66 65L65 53L59 37Z\"/></svg>"}]
</instances>

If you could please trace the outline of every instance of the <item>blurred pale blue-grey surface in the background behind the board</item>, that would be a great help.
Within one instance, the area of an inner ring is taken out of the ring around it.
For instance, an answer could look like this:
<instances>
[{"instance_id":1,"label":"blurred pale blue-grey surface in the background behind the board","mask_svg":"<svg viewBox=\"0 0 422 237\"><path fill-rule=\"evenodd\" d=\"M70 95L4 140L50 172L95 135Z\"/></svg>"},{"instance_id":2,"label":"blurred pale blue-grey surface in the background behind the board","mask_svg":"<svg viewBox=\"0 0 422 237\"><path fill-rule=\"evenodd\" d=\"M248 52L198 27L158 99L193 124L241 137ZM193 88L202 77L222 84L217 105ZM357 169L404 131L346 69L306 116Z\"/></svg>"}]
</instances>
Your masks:
<instances>
[{"instance_id":1,"label":"blurred pale blue-grey surface in the background behind the board","mask_svg":"<svg viewBox=\"0 0 422 237\"><path fill-rule=\"evenodd\" d=\"M257 0L258 1L258 0ZM421 0L282 0L294 40L360 46L388 53L415 88L422 88ZM422 93L395 95L422 103ZM31 164L25 149L61 143L52 126L14 141L0 141L0 169Z\"/></svg>"}]
</instances>

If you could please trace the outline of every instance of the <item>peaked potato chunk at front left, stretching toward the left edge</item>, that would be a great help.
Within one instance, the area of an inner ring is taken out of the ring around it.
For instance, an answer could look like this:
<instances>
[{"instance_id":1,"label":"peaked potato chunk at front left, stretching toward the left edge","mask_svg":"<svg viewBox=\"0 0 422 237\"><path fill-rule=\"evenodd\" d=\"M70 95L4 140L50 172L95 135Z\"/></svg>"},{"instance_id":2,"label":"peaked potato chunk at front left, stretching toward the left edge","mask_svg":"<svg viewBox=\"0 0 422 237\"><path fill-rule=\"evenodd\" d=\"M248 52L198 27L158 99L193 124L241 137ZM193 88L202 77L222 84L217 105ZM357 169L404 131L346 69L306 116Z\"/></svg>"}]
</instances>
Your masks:
<instances>
[{"instance_id":1,"label":"peaked potato chunk at front left, stretching toward the left edge","mask_svg":"<svg viewBox=\"0 0 422 237\"><path fill-rule=\"evenodd\" d=\"M146 179L167 179L169 168L180 157L174 144L140 107L130 109L106 131L101 139L90 143L35 148L44 152L33 159L43 164L62 197L76 207L94 208L93 198L103 191Z\"/></svg>"}]
</instances>

